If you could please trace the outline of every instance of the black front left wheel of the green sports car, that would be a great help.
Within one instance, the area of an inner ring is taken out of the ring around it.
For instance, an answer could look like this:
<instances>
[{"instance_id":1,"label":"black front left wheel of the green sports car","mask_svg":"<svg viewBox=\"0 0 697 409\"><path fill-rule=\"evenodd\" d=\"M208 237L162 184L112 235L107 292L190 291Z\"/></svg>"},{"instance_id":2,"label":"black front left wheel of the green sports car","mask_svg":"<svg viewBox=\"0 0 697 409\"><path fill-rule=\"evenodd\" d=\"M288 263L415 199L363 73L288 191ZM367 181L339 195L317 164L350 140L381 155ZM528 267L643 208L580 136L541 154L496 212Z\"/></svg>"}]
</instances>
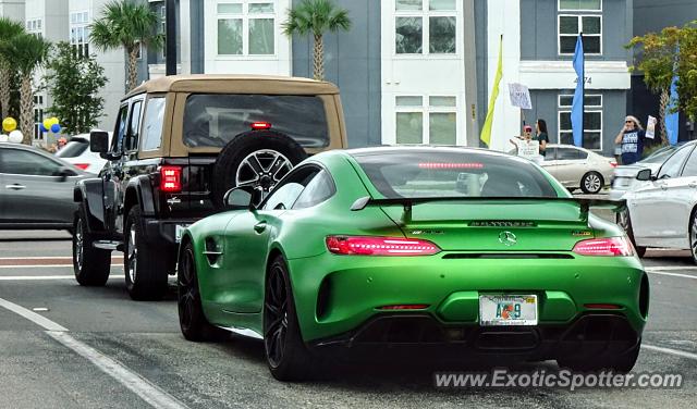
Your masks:
<instances>
[{"instance_id":1,"label":"black front left wheel of the green sports car","mask_svg":"<svg viewBox=\"0 0 697 409\"><path fill-rule=\"evenodd\" d=\"M193 342L223 339L230 334L208 322L204 314L196 273L194 246L186 243L181 250L176 269L176 306L179 326L184 338Z\"/></svg>"}]
</instances>

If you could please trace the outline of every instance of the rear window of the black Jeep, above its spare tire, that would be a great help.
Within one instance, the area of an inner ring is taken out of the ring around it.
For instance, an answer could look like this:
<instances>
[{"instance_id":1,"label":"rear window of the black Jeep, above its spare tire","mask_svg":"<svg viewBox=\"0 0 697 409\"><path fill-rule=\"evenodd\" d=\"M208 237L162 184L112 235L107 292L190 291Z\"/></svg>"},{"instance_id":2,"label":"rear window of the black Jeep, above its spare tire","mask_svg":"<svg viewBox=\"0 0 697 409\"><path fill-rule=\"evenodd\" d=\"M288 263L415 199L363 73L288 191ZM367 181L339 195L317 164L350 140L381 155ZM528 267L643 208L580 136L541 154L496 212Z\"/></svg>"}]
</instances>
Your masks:
<instances>
[{"instance_id":1,"label":"rear window of the black Jeep, above its spare tire","mask_svg":"<svg viewBox=\"0 0 697 409\"><path fill-rule=\"evenodd\" d=\"M325 104L315 96L192 95L184 111L184 144L223 147L254 122L268 122L305 148L329 145Z\"/></svg>"}]
</instances>

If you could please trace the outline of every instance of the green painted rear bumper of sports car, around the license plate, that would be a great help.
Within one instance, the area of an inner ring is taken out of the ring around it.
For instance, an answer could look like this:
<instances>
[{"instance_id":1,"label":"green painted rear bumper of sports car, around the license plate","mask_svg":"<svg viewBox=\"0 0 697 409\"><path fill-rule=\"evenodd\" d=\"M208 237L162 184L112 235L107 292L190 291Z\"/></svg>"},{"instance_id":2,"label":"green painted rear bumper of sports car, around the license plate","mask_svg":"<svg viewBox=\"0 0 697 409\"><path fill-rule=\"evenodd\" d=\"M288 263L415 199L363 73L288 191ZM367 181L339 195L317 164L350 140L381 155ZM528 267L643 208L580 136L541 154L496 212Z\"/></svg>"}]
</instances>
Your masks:
<instances>
[{"instance_id":1,"label":"green painted rear bumper of sports car, around the license plate","mask_svg":"<svg viewBox=\"0 0 697 409\"><path fill-rule=\"evenodd\" d=\"M538 323L571 325L588 313L615 313L640 334L648 315L648 278L635 257L467 259L330 253L288 260L301 332L306 343L350 334L384 306L418 310L443 327L479 326L479 296L536 295ZM549 255L548 255L549 256ZM586 305L611 303L598 310ZM400 311L406 312L406 311Z\"/></svg>"}]
</instances>

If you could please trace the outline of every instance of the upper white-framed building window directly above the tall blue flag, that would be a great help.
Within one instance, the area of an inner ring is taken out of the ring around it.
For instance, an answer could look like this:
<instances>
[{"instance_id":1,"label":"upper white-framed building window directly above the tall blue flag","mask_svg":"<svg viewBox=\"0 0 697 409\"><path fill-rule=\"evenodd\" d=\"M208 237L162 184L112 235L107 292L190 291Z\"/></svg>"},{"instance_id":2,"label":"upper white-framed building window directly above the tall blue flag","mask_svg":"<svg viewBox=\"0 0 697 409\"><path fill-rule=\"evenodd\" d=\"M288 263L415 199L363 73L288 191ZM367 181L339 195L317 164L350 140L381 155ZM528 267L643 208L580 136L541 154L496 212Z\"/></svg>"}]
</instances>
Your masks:
<instances>
[{"instance_id":1,"label":"upper white-framed building window directly above the tall blue flag","mask_svg":"<svg viewBox=\"0 0 697 409\"><path fill-rule=\"evenodd\" d=\"M563 12L557 24L559 54L573 54L580 33L584 52L602 54L602 0L559 0L559 11Z\"/></svg>"}]
</instances>

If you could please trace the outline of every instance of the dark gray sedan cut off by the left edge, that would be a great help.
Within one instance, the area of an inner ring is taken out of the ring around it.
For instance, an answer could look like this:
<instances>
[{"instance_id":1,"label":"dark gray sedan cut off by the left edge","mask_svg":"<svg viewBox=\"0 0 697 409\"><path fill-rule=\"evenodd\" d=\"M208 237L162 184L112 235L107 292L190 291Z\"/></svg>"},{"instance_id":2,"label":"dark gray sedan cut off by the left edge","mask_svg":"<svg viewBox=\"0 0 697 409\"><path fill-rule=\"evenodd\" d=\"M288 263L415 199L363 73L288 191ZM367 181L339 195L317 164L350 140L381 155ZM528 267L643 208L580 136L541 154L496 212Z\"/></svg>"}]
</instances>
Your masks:
<instances>
[{"instance_id":1,"label":"dark gray sedan cut off by the left edge","mask_svg":"<svg viewBox=\"0 0 697 409\"><path fill-rule=\"evenodd\" d=\"M0 142L0 228L72 231L73 188L87 176L41 149Z\"/></svg>"}]
</instances>

